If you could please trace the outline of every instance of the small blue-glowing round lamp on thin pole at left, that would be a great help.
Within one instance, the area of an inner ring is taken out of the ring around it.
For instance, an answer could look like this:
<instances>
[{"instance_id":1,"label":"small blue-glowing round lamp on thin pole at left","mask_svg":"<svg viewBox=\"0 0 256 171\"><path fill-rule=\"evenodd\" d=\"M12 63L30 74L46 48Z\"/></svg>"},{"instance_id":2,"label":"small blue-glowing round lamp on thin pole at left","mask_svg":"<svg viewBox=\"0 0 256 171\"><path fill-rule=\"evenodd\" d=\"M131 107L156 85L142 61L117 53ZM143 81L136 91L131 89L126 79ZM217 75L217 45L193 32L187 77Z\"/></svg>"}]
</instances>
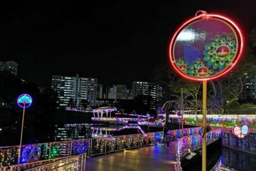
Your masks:
<instances>
[{"instance_id":1,"label":"small blue-glowing round lamp on thin pole at left","mask_svg":"<svg viewBox=\"0 0 256 171\"><path fill-rule=\"evenodd\" d=\"M19 143L19 153L18 153L18 163L19 163L20 153L22 153L22 136L23 136L23 124L24 124L25 109L28 108L32 104L32 98L28 94L22 94L18 97L17 104L20 106L20 108L23 108L22 131L20 133L20 143Z\"/></svg>"}]
</instances>

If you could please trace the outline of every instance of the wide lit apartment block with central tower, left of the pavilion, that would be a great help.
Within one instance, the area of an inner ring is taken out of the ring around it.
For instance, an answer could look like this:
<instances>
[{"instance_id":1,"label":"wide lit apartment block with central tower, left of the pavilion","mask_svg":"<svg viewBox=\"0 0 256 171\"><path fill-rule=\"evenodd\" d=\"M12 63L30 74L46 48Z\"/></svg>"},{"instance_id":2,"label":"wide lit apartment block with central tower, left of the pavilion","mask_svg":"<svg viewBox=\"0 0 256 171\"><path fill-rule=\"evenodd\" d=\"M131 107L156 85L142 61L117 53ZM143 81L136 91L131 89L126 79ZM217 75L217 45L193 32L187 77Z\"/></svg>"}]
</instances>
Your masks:
<instances>
[{"instance_id":1,"label":"wide lit apartment block with central tower, left of the pavilion","mask_svg":"<svg viewBox=\"0 0 256 171\"><path fill-rule=\"evenodd\" d=\"M82 108L81 100L87 100L90 106L96 105L97 78L52 76L52 89L58 93L59 107L68 107L73 101L76 108ZM73 99L73 100L72 100Z\"/></svg>"}]
</instances>

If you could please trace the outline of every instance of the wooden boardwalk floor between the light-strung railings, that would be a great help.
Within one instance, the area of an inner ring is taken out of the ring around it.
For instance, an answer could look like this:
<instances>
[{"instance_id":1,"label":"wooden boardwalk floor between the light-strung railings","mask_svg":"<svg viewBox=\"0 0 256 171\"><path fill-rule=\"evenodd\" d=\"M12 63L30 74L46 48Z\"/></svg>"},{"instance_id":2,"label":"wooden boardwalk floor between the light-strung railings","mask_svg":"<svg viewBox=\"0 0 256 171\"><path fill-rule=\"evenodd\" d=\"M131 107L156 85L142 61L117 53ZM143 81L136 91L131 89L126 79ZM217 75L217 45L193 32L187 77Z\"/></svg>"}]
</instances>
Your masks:
<instances>
[{"instance_id":1,"label":"wooden boardwalk floor between the light-strung railings","mask_svg":"<svg viewBox=\"0 0 256 171\"><path fill-rule=\"evenodd\" d=\"M92 157L86 160L86 171L122 170L155 171L174 170L176 163L177 140L170 142L170 147L163 144L134 148L129 151Z\"/></svg>"}]
</instances>

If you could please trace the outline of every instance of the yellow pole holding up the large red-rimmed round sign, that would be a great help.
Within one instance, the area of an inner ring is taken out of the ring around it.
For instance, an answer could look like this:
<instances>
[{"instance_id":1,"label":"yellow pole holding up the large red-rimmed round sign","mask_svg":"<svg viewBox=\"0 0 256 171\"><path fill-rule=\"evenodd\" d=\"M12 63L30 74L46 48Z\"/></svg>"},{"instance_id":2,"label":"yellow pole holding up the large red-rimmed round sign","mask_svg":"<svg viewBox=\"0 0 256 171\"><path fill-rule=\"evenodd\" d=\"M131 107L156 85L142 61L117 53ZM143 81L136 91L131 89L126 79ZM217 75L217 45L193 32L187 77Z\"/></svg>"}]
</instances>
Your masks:
<instances>
[{"instance_id":1,"label":"yellow pole holding up the large red-rimmed round sign","mask_svg":"<svg viewBox=\"0 0 256 171\"><path fill-rule=\"evenodd\" d=\"M203 80L203 128L206 129L207 80ZM203 132L202 171L206 171L206 131Z\"/></svg>"}]
</instances>

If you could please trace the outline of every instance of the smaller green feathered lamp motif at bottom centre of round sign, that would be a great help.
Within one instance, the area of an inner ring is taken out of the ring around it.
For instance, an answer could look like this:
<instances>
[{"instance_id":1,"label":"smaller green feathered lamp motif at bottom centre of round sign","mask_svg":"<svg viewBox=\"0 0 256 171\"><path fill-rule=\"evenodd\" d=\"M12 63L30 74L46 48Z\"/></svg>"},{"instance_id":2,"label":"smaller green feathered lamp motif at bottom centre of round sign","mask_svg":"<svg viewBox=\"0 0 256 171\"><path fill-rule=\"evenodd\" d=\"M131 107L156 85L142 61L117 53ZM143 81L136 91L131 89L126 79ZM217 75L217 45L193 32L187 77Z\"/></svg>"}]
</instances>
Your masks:
<instances>
[{"instance_id":1,"label":"smaller green feathered lamp motif at bottom centre of round sign","mask_svg":"<svg viewBox=\"0 0 256 171\"><path fill-rule=\"evenodd\" d=\"M206 65L206 62L201 58L197 58L197 60L194 61L193 64L190 66L188 71L189 75L195 77L208 77L214 73L215 71L210 69L210 67Z\"/></svg>"}]
</instances>

